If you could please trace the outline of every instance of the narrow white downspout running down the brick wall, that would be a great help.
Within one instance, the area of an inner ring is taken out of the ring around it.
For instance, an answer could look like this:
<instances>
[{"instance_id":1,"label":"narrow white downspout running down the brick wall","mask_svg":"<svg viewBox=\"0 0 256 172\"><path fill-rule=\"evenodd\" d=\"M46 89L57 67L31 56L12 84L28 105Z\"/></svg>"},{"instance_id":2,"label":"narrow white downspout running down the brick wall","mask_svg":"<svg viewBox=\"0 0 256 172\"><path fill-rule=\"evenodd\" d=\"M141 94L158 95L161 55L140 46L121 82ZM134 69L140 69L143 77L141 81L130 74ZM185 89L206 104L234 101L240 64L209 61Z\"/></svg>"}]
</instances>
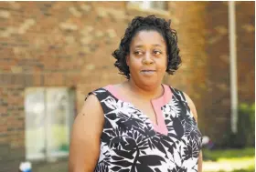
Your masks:
<instances>
[{"instance_id":1,"label":"narrow white downspout running down the brick wall","mask_svg":"<svg viewBox=\"0 0 256 172\"><path fill-rule=\"evenodd\" d=\"M229 62L230 62L230 98L231 98L231 131L238 131L238 87L237 87L237 45L235 2L229 1Z\"/></svg>"}]
</instances>

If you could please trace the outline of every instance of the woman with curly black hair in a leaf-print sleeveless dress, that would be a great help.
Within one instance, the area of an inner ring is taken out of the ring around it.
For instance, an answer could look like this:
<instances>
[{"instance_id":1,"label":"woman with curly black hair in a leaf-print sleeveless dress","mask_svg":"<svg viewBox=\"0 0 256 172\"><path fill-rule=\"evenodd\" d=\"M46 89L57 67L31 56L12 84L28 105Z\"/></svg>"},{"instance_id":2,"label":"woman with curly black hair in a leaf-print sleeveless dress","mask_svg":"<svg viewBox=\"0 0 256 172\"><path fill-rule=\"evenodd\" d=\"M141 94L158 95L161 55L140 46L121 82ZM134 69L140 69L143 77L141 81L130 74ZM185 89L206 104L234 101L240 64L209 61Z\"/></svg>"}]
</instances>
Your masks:
<instances>
[{"instance_id":1,"label":"woman with curly black hair in a leaf-print sleeveless dress","mask_svg":"<svg viewBox=\"0 0 256 172\"><path fill-rule=\"evenodd\" d=\"M112 54L127 81L87 96L73 126L69 172L201 172L196 107L162 84L181 64L176 43L165 19L133 18Z\"/></svg>"}]
</instances>

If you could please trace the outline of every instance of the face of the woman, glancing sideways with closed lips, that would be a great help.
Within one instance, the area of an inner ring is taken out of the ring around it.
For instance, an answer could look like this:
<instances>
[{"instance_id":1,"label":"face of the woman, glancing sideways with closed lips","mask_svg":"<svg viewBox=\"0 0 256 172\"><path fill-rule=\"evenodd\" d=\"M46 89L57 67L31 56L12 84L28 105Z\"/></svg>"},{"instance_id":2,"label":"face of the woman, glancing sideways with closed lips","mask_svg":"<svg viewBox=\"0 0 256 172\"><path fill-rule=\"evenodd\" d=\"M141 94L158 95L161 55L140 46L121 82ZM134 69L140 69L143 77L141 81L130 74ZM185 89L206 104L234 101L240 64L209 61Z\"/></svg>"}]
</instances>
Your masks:
<instances>
[{"instance_id":1,"label":"face of the woman, glancing sideways with closed lips","mask_svg":"<svg viewBox=\"0 0 256 172\"><path fill-rule=\"evenodd\" d=\"M164 37L156 31L138 32L133 36L126 63L137 86L155 87L161 84L167 66Z\"/></svg>"}]
</instances>

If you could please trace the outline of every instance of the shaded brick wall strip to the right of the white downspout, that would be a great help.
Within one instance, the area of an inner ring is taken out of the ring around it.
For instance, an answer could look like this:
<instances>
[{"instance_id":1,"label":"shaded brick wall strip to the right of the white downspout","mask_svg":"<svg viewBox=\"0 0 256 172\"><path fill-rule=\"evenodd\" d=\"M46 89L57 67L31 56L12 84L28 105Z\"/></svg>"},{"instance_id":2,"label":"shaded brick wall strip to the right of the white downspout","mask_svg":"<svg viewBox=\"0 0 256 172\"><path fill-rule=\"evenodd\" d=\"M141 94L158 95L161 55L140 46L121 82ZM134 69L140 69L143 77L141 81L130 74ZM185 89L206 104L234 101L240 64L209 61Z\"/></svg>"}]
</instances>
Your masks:
<instances>
[{"instance_id":1,"label":"shaded brick wall strip to the right of the white downspout","mask_svg":"<svg viewBox=\"0 0 256 172\"><path fill-rule=\"evenodd\" d=\"M252 104L255 102L254 2L237 2L236 10L239 100Z\"/></svg>"}]
</instances>

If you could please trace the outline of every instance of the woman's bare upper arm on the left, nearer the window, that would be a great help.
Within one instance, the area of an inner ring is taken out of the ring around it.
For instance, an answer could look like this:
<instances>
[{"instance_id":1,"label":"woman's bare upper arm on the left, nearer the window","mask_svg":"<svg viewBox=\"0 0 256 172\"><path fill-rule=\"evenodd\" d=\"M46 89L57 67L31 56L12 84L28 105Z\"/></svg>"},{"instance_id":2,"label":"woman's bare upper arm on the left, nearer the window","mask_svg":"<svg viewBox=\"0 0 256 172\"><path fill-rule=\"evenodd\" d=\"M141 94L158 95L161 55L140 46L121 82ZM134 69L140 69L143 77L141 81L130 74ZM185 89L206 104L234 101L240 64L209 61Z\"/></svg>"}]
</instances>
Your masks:
<instances>
[{"instance_id":1,"label":"woman's bare upper arm on the left, nearer the window","mask_svg":"<svg viewBox=\"0 0 256 172\"><path fill-rule=\"evenodd\" d=\"M88 96L76 116L70 139L69 172L92 172L101 151L104 117L96 96Z\"/></svg>"}]
</instances>

